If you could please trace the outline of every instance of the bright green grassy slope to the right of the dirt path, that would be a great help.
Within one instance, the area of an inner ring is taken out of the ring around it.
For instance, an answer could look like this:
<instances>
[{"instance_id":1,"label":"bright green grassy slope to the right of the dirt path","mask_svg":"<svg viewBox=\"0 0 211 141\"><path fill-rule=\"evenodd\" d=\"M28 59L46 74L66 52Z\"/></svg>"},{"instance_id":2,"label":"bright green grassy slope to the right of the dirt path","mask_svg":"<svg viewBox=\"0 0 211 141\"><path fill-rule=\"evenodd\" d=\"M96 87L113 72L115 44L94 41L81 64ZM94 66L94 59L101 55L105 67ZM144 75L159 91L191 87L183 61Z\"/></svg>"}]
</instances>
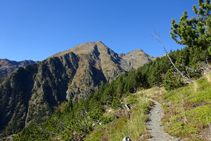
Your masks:
<instances>
[{"instance_id":1,"label":"bright green grassy slope to the right of the dirt path","mask_svg":"<svg viewBox=\"0 0 211 141\"><path fill-rule=\"evenodd\" d=\"M170 92L146 96L159 101L164 109L162 124L167 133L189 140L207 140L200 133L211 131L211 75Z\"/></svg>"}]
</instances>

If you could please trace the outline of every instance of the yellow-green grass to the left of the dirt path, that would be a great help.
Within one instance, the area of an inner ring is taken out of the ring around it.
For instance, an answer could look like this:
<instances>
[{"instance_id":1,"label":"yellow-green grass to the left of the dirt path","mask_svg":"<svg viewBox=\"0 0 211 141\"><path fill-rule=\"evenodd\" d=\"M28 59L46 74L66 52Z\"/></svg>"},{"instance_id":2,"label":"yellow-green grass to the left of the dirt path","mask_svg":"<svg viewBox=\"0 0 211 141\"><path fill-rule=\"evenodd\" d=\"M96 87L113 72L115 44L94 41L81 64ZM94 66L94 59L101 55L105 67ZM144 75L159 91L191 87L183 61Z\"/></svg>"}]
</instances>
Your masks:
<instances>
[{"instance_id":1,"label":"yellow-green grass to the left of the dirt path","mask_svg":"<svg viewBox=\"0 0 211 141\"><path fill-rule=\"evenodd\" d=\"M149 107L153 103L144 98L142 93L129 95L125 100L125 103L135 106L127 113L130 115L130 119L124 115L106 125L98 125L85 141L100 139L103 141L118 141L122 140L125 136L130 137L133 141L143 141L151 137L144 123L148 121L146 113L149 112ZM114 113L115 110L112 109L111 112L105 113L104 116Z\"/></svg>"}]
</instances>

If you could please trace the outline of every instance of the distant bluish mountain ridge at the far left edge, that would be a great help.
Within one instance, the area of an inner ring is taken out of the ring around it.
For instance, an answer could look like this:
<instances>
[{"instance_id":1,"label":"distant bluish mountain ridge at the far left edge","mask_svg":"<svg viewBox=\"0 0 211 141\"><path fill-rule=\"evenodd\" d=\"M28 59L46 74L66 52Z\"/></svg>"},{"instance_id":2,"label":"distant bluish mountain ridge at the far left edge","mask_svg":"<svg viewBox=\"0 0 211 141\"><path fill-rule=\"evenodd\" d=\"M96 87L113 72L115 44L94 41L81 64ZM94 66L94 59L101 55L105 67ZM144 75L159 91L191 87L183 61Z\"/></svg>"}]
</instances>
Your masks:
<instances>
[{"instance_id":1,"label":"distant bluish mountain ridge at the far left edge","mask_svg":"<svg viewBox=\"0 0 211 141\"><path fill-rule=\"evenodd\" d=\"M11 61L8 59L0 59L0 79L11 72L13 72L18 67L23 67L29 64L36 63L32 60L24 60L24 61Z\"/></svg>"}]
</instances>

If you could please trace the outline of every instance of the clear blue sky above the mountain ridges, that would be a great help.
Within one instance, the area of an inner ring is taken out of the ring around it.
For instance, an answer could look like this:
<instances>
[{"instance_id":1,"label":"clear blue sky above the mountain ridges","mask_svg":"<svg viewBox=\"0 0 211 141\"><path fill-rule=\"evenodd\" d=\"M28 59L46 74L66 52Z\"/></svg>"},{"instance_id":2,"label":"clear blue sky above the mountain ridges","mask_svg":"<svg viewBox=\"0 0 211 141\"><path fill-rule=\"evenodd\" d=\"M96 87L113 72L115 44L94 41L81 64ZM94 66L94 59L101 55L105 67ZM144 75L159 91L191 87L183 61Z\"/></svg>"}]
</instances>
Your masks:
<instances>
[{"instance_id":1,"label":"clear blue sky above the mountain ridges","mask_svg":"<svg viewBox=\"0 0 211 141\"><path fill-rule=\"evenodd\" d=\"M141 48L160 56L153 28L168 51L181 49L170 23L185 10L195 16L192 5L198 0L0 0L0 59L41 61L99 40L116 53Z\"/></svg>"}]
</instances>

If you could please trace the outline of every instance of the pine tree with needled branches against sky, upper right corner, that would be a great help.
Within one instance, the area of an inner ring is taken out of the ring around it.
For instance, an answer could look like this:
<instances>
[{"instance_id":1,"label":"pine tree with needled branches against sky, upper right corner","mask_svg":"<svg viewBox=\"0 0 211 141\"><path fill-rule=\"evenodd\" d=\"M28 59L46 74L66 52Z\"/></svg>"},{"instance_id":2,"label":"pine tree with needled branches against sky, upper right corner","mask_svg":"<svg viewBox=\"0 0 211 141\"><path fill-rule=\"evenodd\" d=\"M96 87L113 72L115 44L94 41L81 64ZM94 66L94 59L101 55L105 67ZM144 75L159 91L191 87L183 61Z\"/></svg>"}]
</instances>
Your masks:
<instances>
[{"instance_id":1,"label":"pine tree with needled branches against sky, upper right corner","mask_svg":"<svg viewBox=\"0 0 211 141\"><path fill-rule=\"evenodd\" d=\"M172 19L171 38L178 44L191 48L207 50L211 54L211 3L210 0L199 0L198 9L193 5L197 17L188 19L187 11L183 13L179 24Z\"/></svg>"}]
</instances>

